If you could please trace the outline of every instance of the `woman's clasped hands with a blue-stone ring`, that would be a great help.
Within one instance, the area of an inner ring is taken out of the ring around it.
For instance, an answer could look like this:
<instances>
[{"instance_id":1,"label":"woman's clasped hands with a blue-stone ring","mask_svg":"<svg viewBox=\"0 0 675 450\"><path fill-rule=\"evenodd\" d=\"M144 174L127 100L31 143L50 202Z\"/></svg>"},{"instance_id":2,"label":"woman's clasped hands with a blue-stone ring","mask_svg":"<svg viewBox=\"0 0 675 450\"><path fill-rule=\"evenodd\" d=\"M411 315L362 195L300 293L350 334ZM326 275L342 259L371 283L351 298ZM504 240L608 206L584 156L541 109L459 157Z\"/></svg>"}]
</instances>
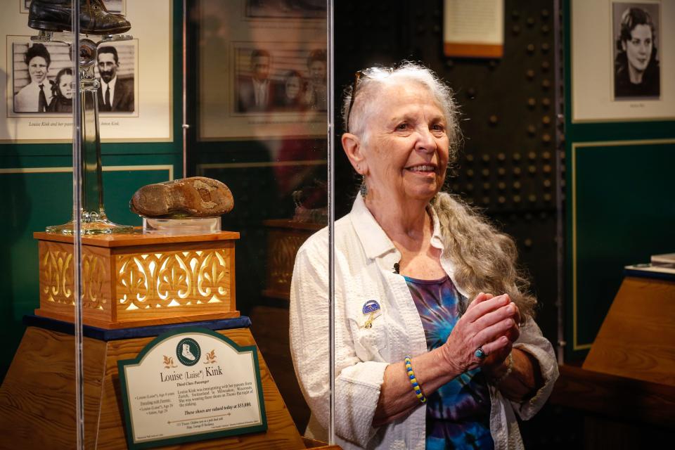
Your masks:
<instances>
[{"instance_id":1,"label":"woman's clasped hands with a blue-stone ring","mask_svg":"<svg viewBox=\"0 0 675 450\"><path fill-rule=\"evenodd\" d=\"M500 369L506 371L505 360L520 336L519 323L520 311L508 294L480 293L445 342L446 360L457 373L480 367L488 375L499 376ZM484 358L475 354L479 347Z\"/></svg>"}]
</instances>

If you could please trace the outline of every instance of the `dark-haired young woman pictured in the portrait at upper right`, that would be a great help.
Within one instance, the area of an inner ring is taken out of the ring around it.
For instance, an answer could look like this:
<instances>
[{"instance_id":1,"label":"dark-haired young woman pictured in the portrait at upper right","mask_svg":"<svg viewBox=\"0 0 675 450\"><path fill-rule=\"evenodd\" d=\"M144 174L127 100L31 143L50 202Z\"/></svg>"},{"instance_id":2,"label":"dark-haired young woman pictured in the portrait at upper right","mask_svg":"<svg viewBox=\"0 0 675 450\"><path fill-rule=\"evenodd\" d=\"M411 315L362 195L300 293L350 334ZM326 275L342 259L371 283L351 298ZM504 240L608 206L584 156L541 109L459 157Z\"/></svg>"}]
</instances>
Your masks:
<instances>
[{"instance_id":1,"label":"dark-haired young woman pictured in the portrait at upper right","mask_svg":"<svg viewBox=\"0 0 675 450\"><path fill-rule=\"evenodd\" d=\"M654 22L642 8L621 15L615 61L615 97L658 97L661 74L656 58Z\"/></svg>"}]
</instances>

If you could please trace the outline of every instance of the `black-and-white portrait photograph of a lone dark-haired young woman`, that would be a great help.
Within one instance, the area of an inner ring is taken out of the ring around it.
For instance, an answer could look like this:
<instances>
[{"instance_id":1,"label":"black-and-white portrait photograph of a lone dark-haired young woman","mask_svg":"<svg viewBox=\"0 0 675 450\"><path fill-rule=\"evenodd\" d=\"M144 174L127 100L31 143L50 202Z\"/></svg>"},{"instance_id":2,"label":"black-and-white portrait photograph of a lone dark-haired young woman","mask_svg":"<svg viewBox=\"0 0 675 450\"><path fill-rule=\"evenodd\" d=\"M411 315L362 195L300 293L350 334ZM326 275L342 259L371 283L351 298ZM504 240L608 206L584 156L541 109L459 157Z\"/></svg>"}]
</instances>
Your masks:
<instances>
[{"instance_id":1,"label":"black-and-white portrait photograph of a lone dark-haired young woman","mask_svg":"<svg viewBox=\"0 0 675 450\"><path fill-rule=\"evenodd\" d=\"M659 98L659 4L612 3L615 100Z\"/></svg>"}]
</instances>

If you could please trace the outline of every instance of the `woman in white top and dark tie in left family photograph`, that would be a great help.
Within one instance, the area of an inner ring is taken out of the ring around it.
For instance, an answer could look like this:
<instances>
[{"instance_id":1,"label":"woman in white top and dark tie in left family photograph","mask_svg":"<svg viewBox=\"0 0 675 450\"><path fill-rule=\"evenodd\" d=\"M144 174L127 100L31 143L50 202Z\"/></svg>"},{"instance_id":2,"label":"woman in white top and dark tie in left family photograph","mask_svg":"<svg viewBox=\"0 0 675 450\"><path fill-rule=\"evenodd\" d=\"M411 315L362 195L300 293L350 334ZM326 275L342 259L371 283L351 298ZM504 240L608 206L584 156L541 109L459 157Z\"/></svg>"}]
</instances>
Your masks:
<instances>
[{"instance_id":1,"label":"woman in white top and dark tie in left family photograph","mask_svg":"<svg viewBox=\"0 0 675 450\"><path fill-rule=\"evenodd\" d=\"M24 55L30 83L14 96L15 113L45 113L51 98L51 81L47 79L51 56L43 44L33 44Z\"/></svg>"}]
</instances>

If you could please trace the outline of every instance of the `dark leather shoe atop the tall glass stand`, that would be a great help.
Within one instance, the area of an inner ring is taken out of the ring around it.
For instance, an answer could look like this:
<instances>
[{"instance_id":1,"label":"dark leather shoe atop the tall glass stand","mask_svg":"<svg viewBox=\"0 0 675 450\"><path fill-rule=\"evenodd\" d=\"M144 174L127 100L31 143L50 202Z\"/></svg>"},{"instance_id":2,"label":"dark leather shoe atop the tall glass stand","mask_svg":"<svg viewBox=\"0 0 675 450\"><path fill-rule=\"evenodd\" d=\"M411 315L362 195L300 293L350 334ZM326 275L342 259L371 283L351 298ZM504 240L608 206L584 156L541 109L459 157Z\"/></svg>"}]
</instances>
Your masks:
<instances>
[{"instance_id":1,"label":"dark leather shoe atop the tall glass stand","mask_svg":"<svg viewBox=\"0 0 675 450\"><path fill-rule=\"evenodd\" d=\"M79 1L79 31L83 34L119 34L131 24L122 15L108 12L101 0ZM28 26L35 30L71 31L71 0L32 0L28 9Z\"/></svg>"}]
</instances>

